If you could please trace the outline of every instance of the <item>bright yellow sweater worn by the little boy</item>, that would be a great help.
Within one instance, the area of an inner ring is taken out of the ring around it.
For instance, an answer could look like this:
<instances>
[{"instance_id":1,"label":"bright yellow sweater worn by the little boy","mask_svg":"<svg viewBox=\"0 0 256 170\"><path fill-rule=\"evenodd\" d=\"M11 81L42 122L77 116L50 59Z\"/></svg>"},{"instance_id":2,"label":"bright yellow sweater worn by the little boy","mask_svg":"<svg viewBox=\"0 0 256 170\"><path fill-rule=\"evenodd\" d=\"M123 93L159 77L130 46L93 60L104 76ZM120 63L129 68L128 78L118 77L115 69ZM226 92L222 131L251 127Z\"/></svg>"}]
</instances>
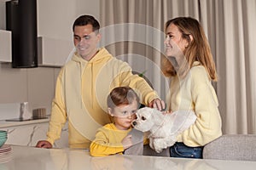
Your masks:
<instances>
[{"instance_id":1,"label":"bright yellow sweater worn by the little boy","mask_svg":"<svg viewBox=\"0 0 256 170\"><path fill-rule=\"evenodd\" d=\"M119 130L113 123L109 123L98 129L96 138L90 144L91 156L110 156L113 154L122 154L124 151L122 139L131 131Z\"/></svg>"}]
</instances>

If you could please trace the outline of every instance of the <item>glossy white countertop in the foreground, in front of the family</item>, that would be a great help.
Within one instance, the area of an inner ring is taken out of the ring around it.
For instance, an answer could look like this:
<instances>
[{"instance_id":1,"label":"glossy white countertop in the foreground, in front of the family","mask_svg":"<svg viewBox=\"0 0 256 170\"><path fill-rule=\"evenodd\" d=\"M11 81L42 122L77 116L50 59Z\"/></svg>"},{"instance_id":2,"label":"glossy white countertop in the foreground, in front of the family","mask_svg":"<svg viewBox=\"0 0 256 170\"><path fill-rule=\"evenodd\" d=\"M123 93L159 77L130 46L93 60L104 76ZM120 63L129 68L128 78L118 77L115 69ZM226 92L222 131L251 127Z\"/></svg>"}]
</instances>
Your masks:
<instances>
[{"instance_id":1,"label":"glossy white countertop in the foreground, in front of the family","mask_svg":"<svg viewBox=\"0 0 256 170\"><path fill-rule=\"evenodd\" d=\"M12 145L9 160L0 162L4 170L79 170L79 169L219 169L254 170L256 161L218 161L160 156L91 157L88 150L39 149ZM0 155L1 158L1 155ZM0 159L1 160L1 159Z\"/></svg>"}]
</instances>

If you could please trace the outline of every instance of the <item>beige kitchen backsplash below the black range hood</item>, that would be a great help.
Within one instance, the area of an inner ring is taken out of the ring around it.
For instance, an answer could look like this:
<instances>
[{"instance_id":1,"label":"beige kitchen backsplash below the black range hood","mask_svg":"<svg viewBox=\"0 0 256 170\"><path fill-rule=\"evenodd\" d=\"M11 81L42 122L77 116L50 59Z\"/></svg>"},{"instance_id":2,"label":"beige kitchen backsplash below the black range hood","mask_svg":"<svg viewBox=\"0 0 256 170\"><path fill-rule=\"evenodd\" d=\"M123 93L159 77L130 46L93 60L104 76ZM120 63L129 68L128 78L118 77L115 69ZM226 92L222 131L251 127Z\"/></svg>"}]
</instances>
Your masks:
<instances>
[{"instance_id":1,"label":"beige kitchen backsplash below the black range hood","mask_svg":"<svg viewBox=\"0 0 256 170\"><path fill-rule=\"evenodd\" d=\"M0 104L18 104L13 105L13 111L0 108L0 120L19 117L20 103L26 101L32 110L46 108L49 115L59 71L51 67L14 69L0 63Z\"/></svg>"}]
</instances>

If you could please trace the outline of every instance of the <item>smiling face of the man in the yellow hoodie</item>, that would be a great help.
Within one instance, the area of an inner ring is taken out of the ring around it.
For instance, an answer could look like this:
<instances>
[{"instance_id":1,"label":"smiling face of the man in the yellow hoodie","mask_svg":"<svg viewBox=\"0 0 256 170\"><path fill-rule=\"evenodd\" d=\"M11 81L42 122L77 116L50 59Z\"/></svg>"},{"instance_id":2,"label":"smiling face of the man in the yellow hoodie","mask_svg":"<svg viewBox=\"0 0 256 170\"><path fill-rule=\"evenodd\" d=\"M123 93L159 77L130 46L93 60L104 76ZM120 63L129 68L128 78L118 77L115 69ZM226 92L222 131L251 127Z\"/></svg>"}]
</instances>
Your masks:
<instances>
[{"instance_id":1,"label":"smiling face of the man in the yellow hoodie","mask_svg":"<svg viewBox=\"0 0 256 170\"><path fill-rule=\"evenodd\" d=\"M91 25L74 27L73 43L79 55L85 60L90 60L96 54L100 39L100 34L96 34Z\"/></svg>"}]
</instances>

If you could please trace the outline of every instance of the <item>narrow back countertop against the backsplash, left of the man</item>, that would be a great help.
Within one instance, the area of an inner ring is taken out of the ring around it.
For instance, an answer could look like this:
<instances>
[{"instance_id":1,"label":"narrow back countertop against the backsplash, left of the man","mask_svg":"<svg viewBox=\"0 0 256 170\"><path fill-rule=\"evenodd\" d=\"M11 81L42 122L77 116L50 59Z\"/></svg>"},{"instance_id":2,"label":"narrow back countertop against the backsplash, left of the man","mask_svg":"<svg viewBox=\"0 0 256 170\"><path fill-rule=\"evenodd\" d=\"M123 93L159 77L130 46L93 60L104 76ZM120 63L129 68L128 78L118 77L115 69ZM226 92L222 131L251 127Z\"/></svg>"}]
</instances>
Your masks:
<instances>
[{"instance_id":1,"label":"narrow back countertop against the backsplash, left of the man","mask_svg":"<svg viewBox=\"0 0 256 170\"><path fill-rule=\"evenodd\" d=\"M23 121L23 122L7 122L5 120L0 121L0 128L3 127L15 127L20 125L28 125L28 124L35 124L40 122L49 122L49 117L44 119L35 119L30 121Z\"/></svg>"}]
</instances>

